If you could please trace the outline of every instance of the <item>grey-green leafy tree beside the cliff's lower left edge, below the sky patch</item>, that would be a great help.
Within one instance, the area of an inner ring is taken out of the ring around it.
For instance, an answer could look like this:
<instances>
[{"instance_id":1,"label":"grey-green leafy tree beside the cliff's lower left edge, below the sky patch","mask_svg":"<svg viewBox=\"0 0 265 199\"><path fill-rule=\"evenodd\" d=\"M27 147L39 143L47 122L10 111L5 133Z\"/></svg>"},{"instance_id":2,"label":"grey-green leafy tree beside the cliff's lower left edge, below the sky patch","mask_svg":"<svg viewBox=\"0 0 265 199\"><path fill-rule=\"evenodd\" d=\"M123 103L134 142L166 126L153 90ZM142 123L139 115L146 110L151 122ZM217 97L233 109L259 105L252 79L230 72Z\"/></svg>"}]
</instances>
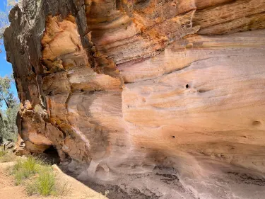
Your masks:
<instances>
[{"instance_id":1,"label":"grey-green leafy tree beside the cliff's lower left edge, below the sky patch","mask_svg":"<svg viewBox=\"0 0 265 199\"><path fill-rule=\"evenodd\" d=\"M15 140L18 129L16 115L18 113L18 99L11 92L12 77L0 76L0 144L4 139Z\"/></svg>"}]
</instances>

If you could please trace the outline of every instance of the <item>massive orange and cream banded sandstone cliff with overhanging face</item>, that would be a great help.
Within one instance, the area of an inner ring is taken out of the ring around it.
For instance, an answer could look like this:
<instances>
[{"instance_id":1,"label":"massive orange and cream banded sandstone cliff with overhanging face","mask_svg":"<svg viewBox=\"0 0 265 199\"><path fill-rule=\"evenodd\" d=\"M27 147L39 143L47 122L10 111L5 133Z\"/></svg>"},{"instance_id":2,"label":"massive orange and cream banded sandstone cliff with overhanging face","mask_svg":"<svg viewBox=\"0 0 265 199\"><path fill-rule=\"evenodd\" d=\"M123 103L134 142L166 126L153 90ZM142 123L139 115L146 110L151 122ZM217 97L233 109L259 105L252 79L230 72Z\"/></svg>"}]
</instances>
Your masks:
<instances>
[{"instance_id":1,"label":"massive orange and cream banded sandstone cliff with overhanging face","mask_svg":"<svg viewBox=\"0 0 265 199\"><path fill-rule=\"evenodd\" d=\"M10 20L30 152L110 198L264 198L265 1L23 0Z\"/></svg>"}]
</instances>

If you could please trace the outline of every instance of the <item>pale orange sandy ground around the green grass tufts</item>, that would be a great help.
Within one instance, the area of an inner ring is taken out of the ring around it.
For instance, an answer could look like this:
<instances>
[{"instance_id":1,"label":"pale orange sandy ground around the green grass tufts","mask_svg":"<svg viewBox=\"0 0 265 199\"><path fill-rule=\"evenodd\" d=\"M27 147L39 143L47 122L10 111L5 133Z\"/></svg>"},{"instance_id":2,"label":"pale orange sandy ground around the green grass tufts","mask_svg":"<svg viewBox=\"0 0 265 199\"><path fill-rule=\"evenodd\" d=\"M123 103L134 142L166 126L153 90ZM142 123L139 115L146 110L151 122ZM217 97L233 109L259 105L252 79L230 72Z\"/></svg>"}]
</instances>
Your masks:
<instances>
[{"instance_id":1,"label":"pale orange sandy ground around the green grass tufts","mask_svg":"<svg viewBox=\"0 0 265 199\"><path fill-rule=\"evenodd\" d=\"M40 195L28 196L25 193L24 186L15 186L13 176L8 174L8 167L13 163L0 163L0 198L1 199L105 199L106 197L98 192L93 191L83 183L76 181L75 178L67 176L61 170L54 166L54 171L57 174L57 178L61 183L67 183L69 186L69 193L66 196L59 197L42 197Z\"/></svg>"}]
</instances>

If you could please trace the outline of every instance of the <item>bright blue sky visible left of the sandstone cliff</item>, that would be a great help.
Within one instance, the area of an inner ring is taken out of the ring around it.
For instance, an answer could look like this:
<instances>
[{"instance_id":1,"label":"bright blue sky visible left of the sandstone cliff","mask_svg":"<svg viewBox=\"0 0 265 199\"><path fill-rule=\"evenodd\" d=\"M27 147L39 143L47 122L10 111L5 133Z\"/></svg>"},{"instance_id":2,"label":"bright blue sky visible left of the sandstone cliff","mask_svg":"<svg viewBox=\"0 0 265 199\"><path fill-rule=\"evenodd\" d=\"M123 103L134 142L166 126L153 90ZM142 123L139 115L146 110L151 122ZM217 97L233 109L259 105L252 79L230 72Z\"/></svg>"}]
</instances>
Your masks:
<instances>
[{"instance_id":1,"label":"bright blue sky visible left of the sandstone cliff","mask_svg":"<svg viewBox=\"0 0 265 199\"><path fill-rule=\"evenodd\" d=\"M0 10L5 10L6 0L0 0ZM4 45L0 46L2 52L0 53L0 76L13 74L12 65L6 62L6 51L4 50ZM12 91L17 96L16 86L12 85Z\"/></svg>"}]
</instances>

